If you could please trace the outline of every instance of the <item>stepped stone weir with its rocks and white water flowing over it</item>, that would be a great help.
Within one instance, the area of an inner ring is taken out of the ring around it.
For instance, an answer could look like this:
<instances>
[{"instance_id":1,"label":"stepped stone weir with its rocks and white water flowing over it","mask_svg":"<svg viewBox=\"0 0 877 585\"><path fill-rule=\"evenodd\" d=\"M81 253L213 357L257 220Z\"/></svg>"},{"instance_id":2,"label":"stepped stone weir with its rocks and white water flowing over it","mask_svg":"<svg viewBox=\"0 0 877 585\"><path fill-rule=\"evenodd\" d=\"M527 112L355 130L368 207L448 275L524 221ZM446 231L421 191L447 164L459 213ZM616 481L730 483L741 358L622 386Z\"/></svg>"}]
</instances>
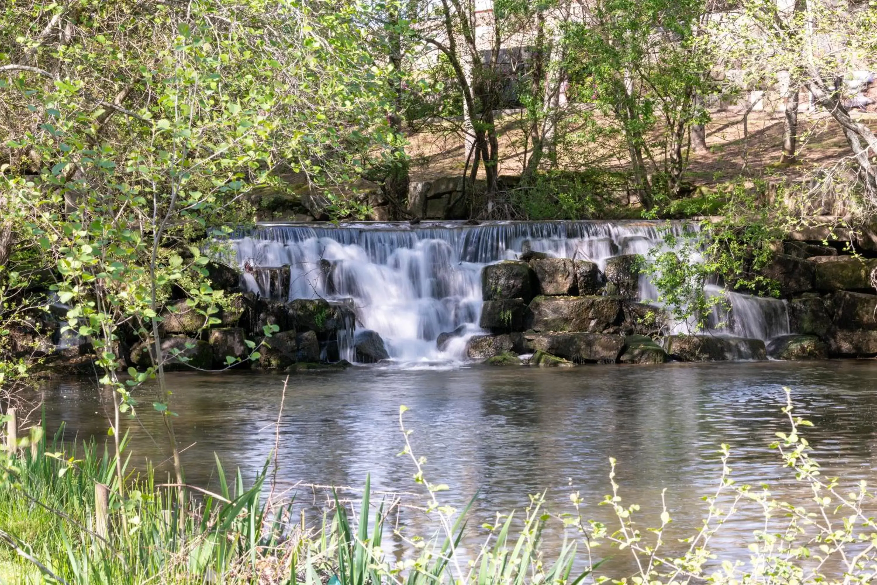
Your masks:
<instances>
[{"instance_id":1,"label":"stepped stone weir with its rocks and white water flowing over it","mask_svg":"<svg viewBox=\"0 0 877 585\"><path fill-rule=\"evenodd\" d=\"M859 292L832 289L824 299L815 276L824 262L800 251L777 254L766 268L786 298L712 286L708 295L727 299L715 326L692 334L675 323L638 266L666 246L667 233L695 229L645 221L264 224L232 244L250 295L345 311L343 332L321 333L324 358L566 366L877 353L852 347L860 332L832 323L835 298Z\"/></svg>"}]
</instances>

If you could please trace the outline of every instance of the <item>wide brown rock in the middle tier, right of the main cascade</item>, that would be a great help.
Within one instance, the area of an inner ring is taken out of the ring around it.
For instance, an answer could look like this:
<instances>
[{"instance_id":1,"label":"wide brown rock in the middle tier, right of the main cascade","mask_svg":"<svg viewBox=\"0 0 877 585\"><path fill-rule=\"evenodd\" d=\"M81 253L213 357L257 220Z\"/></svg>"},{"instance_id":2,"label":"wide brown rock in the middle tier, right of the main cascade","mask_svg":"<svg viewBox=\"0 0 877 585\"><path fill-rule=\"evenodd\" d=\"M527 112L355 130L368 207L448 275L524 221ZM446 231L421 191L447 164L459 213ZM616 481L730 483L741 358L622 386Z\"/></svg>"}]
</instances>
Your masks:
<instances>
[{"instance_id":1,"label":"wide brown rock in the middle tier, right of the main cascade","mask_svg":"<svg viewBox=\"0 0 877 585\"><path fill-rule=\"evenodd\" d=\"M602 332L614 325L621 300L613 296L537 296L524 326L534 331Z\"/></svg>"}]
</instances>

